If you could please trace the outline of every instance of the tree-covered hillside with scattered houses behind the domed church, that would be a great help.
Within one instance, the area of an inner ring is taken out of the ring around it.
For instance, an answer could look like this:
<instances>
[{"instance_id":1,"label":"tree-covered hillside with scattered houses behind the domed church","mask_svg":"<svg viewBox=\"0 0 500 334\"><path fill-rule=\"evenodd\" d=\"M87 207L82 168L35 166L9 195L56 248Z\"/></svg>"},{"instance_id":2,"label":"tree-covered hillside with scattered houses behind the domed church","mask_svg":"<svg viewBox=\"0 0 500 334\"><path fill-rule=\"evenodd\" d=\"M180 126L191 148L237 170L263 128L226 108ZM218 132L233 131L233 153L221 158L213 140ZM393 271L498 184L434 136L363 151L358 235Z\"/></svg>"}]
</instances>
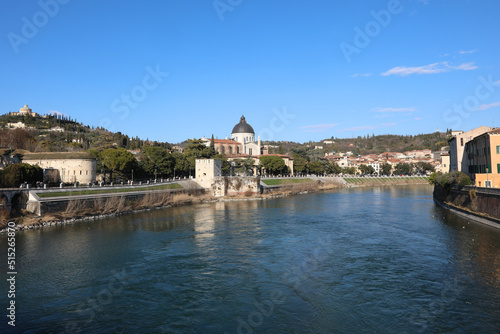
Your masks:
<instances>
[{"instance_id":1,"label":"tree-covered hillside with scattered houses behind the domed church","mask_svg":"<svg viewBox=\"0 0 500 334\"><path fill-rule=\"evenodd\" d=\"M8 124L19 124L24 128L9 129ZM448 131L447 131L448 133ZM322 157L329 152L353 154L379 154L382 152L404 152L419 149L438 151L447 146L448 134L435 132L419 135L380 135L357 138L330 138L334 144L322 142L296 143L289 141L263 142L271 145L275 153L291 154L297 150L311 151L311 157ZM325 139L326 140L326 139ZM61 115L45 116L0 116L0 148L25 149L31 152L78 152L93 149L102 151L110 147L141 150L144 144L171 148L167 142L151 142L147 139L130 138L120 132L113 133L102 127L90 127L70 117ZM187 141L181 143L187 146ZM322 146L323 149L314 149Z\"/></svg>"}]
</instances>

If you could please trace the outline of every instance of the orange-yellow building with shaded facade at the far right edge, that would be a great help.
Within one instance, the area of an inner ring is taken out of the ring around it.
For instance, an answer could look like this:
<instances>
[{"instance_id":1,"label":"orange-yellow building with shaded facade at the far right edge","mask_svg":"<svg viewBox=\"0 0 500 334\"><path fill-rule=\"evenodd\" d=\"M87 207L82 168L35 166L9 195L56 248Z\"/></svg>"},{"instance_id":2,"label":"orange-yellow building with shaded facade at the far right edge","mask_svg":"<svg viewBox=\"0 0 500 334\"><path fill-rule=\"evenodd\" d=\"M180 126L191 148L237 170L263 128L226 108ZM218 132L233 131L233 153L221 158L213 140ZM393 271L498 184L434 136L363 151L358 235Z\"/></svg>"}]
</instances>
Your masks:
<instances>
[{"instance_id":1,"label":"orange-yellow building with shaded facade at the far right edge","mask_svg":"<svg viewBox=\"0 0 500 334\"><path fill-rule=\"evenodd\" d=\"M465 145L467 173L478 187L500 188L500 128L474 137Z\"/></svg>"}]
</instances>

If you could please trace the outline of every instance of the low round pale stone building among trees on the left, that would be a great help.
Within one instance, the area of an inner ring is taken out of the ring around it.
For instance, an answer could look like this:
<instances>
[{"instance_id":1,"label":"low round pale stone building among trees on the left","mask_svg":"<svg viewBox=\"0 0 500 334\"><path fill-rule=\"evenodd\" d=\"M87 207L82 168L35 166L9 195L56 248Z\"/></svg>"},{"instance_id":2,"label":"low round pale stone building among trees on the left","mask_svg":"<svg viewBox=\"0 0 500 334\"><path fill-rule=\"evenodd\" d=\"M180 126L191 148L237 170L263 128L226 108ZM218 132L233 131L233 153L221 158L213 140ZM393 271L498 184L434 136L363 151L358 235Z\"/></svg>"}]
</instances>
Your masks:
<instances>
[{"instance_id":1,"label":"low round pale stone building among trees on the left","mask_svg":"<svg viewBox=\"0 0 500 334\"><path fill-rule=\"evenodd\" d=\"M97 161L86 152L27 153L22 162L43 168L46 182L91 183L96 181Z\"/></svg>"}]
</instances>

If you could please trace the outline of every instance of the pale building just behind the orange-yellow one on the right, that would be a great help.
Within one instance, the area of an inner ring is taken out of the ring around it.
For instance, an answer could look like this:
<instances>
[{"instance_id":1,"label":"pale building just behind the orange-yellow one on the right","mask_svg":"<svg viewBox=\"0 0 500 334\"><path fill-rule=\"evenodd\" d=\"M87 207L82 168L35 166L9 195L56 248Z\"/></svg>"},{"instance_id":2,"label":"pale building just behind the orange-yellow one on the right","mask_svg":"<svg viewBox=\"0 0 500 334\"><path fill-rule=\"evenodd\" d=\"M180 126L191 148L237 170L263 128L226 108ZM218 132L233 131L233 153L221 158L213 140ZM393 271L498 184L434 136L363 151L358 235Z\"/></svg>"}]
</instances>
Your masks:
<instances>
[{"instance_id":1,"label":"pale building just behind the orange-yellow one on the right","mask_svg":"<svg viewBox=\"0 0 500 334\"><path fill-rule=\"evenodd\" d=\"M482 135L488 131L493 130L489 126L480 126L478 128L472 129L467 132L463 131L452 131L455 134L454 137L448 140L450 145L450 172L462 171L467 172L469 162L467 156L465 155L465 144L471 141L473 138Z\"/></svg>"}]
</instances>

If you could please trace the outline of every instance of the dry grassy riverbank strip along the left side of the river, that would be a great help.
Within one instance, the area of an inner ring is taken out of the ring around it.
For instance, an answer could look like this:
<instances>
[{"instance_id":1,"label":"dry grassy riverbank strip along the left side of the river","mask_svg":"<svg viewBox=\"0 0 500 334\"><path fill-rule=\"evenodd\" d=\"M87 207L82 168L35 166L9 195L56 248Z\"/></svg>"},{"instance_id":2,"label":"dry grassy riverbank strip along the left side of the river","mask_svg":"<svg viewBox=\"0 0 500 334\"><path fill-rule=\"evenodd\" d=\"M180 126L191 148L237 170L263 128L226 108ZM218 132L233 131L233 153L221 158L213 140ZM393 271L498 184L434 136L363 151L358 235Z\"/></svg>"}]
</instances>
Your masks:
<instances>
[{"instance_id":1,"label":"dry grassy riverbank strip along the left side of the river","mask_svg":"<svg viewBox=\"0 0 500 334\"><path fill-rule=\"evenodd\" d=\"M364 179L364 178L360 178ZM371 187L387 185L426 184L427 180L410 180L407 178L395 178L390 182L379 182L376 178L366 178L366 182L338 182L333 178L313 177L312 182L286 183L259 195L233 195L222 198L213 197L206 192L185 191L178 193L151 192L137 201L127 200L124 196L116 195L105 199L82 202L75 199L70 200L64 211L48 213L38 216L29 212L23 212L23 216L10 219L16 223L17 230L28 230L46 228L51 226L74 224L81 221L99 220L108 217L158 210L177 206L187 206L200 203L226 202L226 201L252 201L265 200L278 197L308 194L320 191L329 191L340 188ZM0 233L6 232L7 223L2 226Z\"/></svg>"}]
</instances>

